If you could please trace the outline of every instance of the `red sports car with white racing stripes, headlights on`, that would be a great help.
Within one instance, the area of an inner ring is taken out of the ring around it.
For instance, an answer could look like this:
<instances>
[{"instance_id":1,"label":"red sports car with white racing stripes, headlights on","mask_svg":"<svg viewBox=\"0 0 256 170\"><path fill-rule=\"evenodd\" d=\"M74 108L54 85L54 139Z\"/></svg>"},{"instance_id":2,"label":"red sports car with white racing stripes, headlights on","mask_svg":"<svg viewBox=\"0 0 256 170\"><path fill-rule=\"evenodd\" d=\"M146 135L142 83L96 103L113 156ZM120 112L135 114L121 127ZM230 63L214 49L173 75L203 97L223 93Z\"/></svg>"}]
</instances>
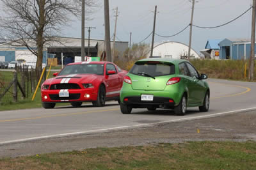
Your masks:
<instances>
[{"instance_id":1,"label":"red sports car with white racing stripes, headlights on","mask_svg":"<svg viewBox=\"0 0 256 170\"><path fill-rule=\"evenodd\" d=\"M127 71L108 61L70 63L42 84L42 105L51 109L57 102L76 107L83 102L104 106L106 100L119 101L126 74Z\"/></svg>"}]
</instances>

